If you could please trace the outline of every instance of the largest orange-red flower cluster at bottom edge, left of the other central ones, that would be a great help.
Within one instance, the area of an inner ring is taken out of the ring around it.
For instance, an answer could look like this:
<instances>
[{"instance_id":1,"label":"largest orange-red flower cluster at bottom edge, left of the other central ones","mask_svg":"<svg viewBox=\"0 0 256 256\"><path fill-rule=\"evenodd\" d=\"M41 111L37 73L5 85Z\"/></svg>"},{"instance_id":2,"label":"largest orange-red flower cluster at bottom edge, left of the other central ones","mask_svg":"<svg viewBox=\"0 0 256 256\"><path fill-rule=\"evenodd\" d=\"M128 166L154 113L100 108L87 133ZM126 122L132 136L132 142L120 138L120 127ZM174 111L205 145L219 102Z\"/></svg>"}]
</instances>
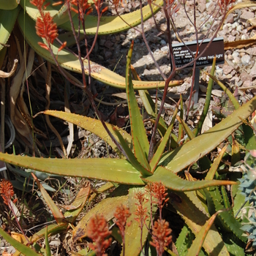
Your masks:
<instances>
[{"instance_id":1,"label":"largest orange-red flower cluster at bottom edge, left of the other central ones","mask_svg":"<svg viewBox=\"0 0 256 256\"><path fill-rule=\"evenodd\" d=\"M97 256L107 256L104 252L110 246L112 238L105 239L111 234L111 231L108 230L106 219L102 214L96 214L94 217L91 217L87 227L87 236L94 241L94 244L90 243L89 247L94 250Z\"/></svg>"}]
</instances>

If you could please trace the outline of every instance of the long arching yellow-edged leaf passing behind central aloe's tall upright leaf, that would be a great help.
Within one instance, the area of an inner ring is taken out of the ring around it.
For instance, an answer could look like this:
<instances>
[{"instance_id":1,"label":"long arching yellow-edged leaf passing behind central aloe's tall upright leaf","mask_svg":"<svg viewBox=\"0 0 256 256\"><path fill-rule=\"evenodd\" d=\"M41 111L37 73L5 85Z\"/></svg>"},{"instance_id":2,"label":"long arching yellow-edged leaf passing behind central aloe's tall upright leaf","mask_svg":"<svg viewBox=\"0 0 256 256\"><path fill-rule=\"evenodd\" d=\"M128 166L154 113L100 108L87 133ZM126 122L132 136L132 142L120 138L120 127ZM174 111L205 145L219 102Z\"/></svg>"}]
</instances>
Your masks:
<instances>
[{"instance_id":1,"label":"long arching yellow-edged leaf passing behind central aloe's tall upright leaf","mask_svg":"<svg viewBox=\"0 0 256 256\"><path fill-rule=\"evenodd\" d=\"M38 45L38 42L42 42L42 38L38 37L35 30L35 23L34 20L31 20L28 15L24 15L22 12L20 12L20 15L18 15L18 25L20 26L20 30L22 31L24 37L26 38L26 42L29 43L31 48L33 48L39 56L42 56L47 61L50 61L51 63L55 64L55 61L53 61L52 56L50 56L48 50L43 49ZM26 28L26 30L24 30ZM53 44L53 53L57 55L60 45ZM69 51L63 49L60 50L58 53L58 61L59 65L63 67L64 69L69 69L73 72L81 73L81 67L80 67L80 61L76 56L74 56ZM86 75L89 74L89 67L88 67L88 61L85 60L84 62L85 72ZM102 83L107 83L110 86L117 87L119 89L125 89L126 83L125 78L123 78L121 75L116 74L115 72L110 71L109 69L106 69L105 67L102 67L99 64L96 64L94 62L91 63L91 77L95 78L96 80L101 81ZM158 82L158 81L132 81L134 84L135 89L153 89L153 88L164 88L165 82ZM178 86L182 83L182 81L173 81L170 82L169 86Z\"/></svg>"}]
</instances>

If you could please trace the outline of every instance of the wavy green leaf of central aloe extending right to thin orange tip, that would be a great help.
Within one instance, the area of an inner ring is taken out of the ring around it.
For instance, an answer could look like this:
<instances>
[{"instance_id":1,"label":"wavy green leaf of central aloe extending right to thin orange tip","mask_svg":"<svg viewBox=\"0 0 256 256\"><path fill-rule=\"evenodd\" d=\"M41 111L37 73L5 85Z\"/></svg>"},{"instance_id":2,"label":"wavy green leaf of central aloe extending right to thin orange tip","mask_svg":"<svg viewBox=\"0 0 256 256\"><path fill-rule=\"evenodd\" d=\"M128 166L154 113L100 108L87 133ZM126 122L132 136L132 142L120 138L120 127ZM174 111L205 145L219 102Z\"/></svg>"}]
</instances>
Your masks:
<instances>
[{"instance_id":1,"label":"wavy green leaf of central aloe extending right to thin orange tip","mask_svg":"<svg viewBox=\"0 0 256 256\"><path fill-rule=\"evenodd\" d=\"M212 181L187 181L176 173L173 173L171 170L167 170L165 167L159 166L157 170L154 172L152 176L143 177L143 181L145 182L162 182L168 189L175 190L175 191L192 191L197 189L203 189L206 187L213 187L213 186L225 186L227 184L236 184L234 181L219 181L219 180L212 180Z\"/></svg>"}]
</instances>

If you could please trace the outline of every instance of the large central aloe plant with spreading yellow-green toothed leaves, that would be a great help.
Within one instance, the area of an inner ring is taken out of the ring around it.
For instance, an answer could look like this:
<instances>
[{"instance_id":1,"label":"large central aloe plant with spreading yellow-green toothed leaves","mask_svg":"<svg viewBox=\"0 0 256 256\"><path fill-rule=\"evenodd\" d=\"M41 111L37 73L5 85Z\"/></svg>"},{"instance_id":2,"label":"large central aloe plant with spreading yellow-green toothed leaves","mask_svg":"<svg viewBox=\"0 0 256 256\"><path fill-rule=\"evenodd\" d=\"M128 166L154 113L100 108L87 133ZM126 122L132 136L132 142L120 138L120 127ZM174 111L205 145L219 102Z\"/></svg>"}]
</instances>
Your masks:
<instances>
[{"instance_id":1,"label":"large central aloe plant with spreading yellow-green toothed leaves","mask_svg":"<svg viewBox=\"0 0 256 256\"><path fill-rule=\"evenodd\" d=\"M154 157L149 162L149 143L143 126L143 121L140 117L140 110L132 85L130 71L131 57L132 47L128 53L126 75L127 101L129 105L132 135L128 135L124 130L118 129L113 125L108 125L118 143L124 148L128 159L43 159L2 153L0 153L0 159L4 162L9 162L12 165L29 167L30 169L39 170L45 173L53 173L62 176L96 178L119 184L118 188L113 191L110 197L102 200L102 202L95 206L89 214L78 223L73 231L75 240L86 236L86 225L89 222L90 217L95 213L98 211L104 213L105 218L109 221L113 218L114 206L117 206L118 202L126 203L130 209L134 210L136 207L135 193L138 191L144 192L144 187L148 183L162 182L165 187L170 189L170 192L172 192L171 195L176 195L176 197L179 198L178 200L172 200L172 205L184 218L188 227L195 233L195 236L198 234L200 237L198 238L197 246L200 247L203 245L206 252L213 255L214 253L215 255L217 253L216 250L214 251L214 248L217 248L218 244L222 244L221 252L223 255L227 255L228 251L233 249L228 246L227 240L222 240L222 237L214 226L209 229L209 223L212 222L214 218L217 218L217 225L222 226L221 228L223 229L221 232L224 233L229 230L228 232L236 233L240 242L237 242L238 245L235 249L240 249L241 251L241 244L244 243L244 238L241 237L241 233L240 235L237 233L241 224L236 218L232 217L233 215L230 211L224 211L220 213L218 217L214 215L215 211L222 210L222 208L225 207L224 202L227 202L225 191L222 192L222 195L219 194L217 186L236 184L236 182L213 180L212 178L214 177L214 173L216 173L218 164L213 165L209 172L211 175L209 175L206 180L184 180L181 178L180 173L184 168L192 165L192 163L216 148L219 143L234 132L242 124L242 119L247 118L256 109L256 98L251 99L245 105L235 110L230 116L227 116L227 118L219 122L215 127L209 129L208 132L205 132L203 135L198 135L184 145L178 146L178 148L175 148L173 151L164 152L167 140L170 138L173 122L175 120L174 117L178 113L177 106L173 115L173 121L171 122L170 127L167 127L162 141L154 152ZM94 130L94 127L96 126L98 128L96 130L97 135L110 143L110 145L112 143L109 135L106 135L104 130L102 132L102 124L97 120L59 111L47 110L45 111L45 114L63 118L66 121L78 124L89 130ZM91 124L93 124L93 127ZM116 150L118 149L116 148ZM222 156L219 157L219 160L221 158ZM133 187L128 187L127 185L133 185ZM212 189L207 189L208 187L212 187ZM201 196L208 200L208 205L206 205L205 201L203 202L200 197L197 197L197 195L194 194L193 191L196 190L200 192ZM113 206L113 211L110 211L110 205ZM148 208L148 211L149 210L150 209ZM213 217L206 223L208 214L212 214ZM129 217L129 219L132 218L135 218L134 214ZM140 237L141 231L140 228L138 228L138 224L135 222L132 223L133 224L127 227L125 231L125 243L130 245L132 241L132 246L127 247L129 249L124 252L125 255L138 255L140 253L140 239L137 238ZM59 222L59 225L52 227L52 229L48 228L48 233L52 233L53 231L51 230L55 229L61 231L62 228L66 227L63 225L62 222ZM205 232L200 232L200 229L202 228ZM143 244L146 241L147 233L148 230L143 228ZM204 233L204 236L202 236L202 233ZM202 239L205 240L204 243Z\"/></svg>"}]
</instances>

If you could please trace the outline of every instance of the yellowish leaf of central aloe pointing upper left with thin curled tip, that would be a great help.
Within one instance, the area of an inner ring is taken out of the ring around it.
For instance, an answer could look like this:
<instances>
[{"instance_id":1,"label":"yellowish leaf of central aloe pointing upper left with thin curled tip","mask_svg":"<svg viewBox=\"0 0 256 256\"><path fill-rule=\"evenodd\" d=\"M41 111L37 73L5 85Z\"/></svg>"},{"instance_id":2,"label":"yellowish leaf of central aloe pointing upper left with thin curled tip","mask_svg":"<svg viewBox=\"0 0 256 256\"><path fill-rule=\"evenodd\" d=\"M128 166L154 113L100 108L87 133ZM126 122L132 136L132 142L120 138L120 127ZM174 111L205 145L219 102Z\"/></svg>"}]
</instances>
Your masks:
<instances>
[{"instance_id":1,"label":"yellowish leaf of central aloe pointing upper left with thin curled tip","mask_svg":"<svg viewBox=\"0 0 256 256\"><path fill-rule=\"evenodd\" d=\"M104 127L102 126L101 121L94 119L94 118L87 117L87 116L80 116L80 115L77 115L74 113L67 113L67 112L55 111L55 110L45 110L43 113L45 113L46 115L61 118L61 119L68 121L72 124L76 124L79 127L82 127L83 129L93 132L95 135L99 136L99 138L102 138L102 140L105 140L105 142L108 143L108 145L110 145L114 151L119 152L118 148L116 147L116 144L113 143L113 141L111 140L111 138L108 135L108 132L106 132ZM115 128L111 124L106 124L106 126L108 127L108 129L114 136L115 136L116 129L119 132L121 132L121 136L124 138L127 145L129 146L129 148L131 148L131 149L133 148L132 137L131 137L131 135L129 135L129 133L127 133L126 131L124 131L123 129L120 129L118 127ZM118 140L118 136L116 135L115 137ZM118 140L118 143L121 143L121 141Z\"/></svg>"}]
</instances>

